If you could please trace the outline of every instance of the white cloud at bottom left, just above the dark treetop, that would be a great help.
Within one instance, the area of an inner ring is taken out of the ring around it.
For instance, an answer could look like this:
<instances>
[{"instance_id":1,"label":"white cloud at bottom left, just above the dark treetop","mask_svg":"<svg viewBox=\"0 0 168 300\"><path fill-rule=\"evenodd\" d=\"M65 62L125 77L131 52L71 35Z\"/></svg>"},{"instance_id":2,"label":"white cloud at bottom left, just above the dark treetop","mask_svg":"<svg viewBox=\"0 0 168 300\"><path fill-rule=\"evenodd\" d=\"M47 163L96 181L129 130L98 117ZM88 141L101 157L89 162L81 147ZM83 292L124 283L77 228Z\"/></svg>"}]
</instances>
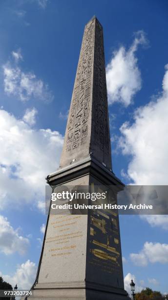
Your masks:
<instances>
[{"instance_id":1,"label":"white cloud at bottom left, just above the dark treetop","mask_svg":"<svg viewBox=\"0 0 168 300\"><path fill-rule=\"evenodd\" d=\"M9 282L13 287L18 285L18 288L29 290L36 278L37 267L35 263L27 260L25 263L19 265L14 275L0 275L6 282Z\"/></svg>"}]
</instances>

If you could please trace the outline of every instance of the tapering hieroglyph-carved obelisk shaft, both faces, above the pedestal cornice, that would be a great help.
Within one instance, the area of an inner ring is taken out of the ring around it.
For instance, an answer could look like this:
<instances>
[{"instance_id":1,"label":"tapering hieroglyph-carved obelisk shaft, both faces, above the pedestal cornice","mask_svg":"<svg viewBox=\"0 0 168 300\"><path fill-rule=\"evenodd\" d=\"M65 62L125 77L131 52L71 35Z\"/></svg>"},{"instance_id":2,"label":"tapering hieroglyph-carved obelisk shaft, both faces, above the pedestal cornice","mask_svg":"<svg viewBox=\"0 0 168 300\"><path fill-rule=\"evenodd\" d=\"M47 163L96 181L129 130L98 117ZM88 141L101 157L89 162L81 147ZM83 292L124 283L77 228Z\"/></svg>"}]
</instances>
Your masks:
<instances>
[{"instance_id":1,"label":"tapering hieroglyph-carved obelisk shaft, both faces, above the pedestal cornice","mask_svg":"<svg viewBox=\"0 0 168 300\"><path fill-rule=\"evenodd\" d=\"M96 18L84 29L60 166L90 152L111 169L103 28Z\"/></svg>"}]
</instances>

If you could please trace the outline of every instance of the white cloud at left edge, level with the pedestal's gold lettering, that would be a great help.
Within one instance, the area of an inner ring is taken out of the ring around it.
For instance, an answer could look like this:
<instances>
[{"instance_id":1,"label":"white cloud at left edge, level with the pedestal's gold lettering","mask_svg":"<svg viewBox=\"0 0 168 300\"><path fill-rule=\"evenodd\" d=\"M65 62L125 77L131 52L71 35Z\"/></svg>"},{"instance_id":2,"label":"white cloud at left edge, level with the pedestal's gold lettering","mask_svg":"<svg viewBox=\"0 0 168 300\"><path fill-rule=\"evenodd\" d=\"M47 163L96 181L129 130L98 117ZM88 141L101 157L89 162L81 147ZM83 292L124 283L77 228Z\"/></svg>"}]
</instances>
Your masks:
<instances>
[{"instance_id":1,"label":"white cloud at left edge, level with the pedestal's gold lettering","mask_svg":"<svg viewBox=\"0 0 168 300\"><path fill-rule=\"evenodd\" d=\"M0 215L0 251L6 255L14 252L24 254L29 246L29 240L19 235L19 229L14 229L7 218Z\"/></svg>"}]
</instances>

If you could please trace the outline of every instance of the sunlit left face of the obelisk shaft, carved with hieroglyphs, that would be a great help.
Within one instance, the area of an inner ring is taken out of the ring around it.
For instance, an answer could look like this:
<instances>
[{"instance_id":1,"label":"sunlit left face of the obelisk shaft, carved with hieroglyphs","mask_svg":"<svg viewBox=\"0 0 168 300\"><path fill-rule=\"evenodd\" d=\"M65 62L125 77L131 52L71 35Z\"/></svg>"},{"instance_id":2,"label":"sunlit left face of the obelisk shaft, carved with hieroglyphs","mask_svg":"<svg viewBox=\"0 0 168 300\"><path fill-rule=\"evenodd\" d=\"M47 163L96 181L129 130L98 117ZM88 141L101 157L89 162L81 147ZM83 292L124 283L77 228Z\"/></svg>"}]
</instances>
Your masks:
<instances>
[{"instance_id":1,"label":"sunlit left face of the obelisk shaft, carved with hieroglyphs","mask_svg":"<svg viewBox=\"0 0 168 300\"><path fill-rule=\"evenodd\" d=\"M72 95L66 151L86 143L93 76L94 21L86 26Z\"/></svg>"}]
</instances>

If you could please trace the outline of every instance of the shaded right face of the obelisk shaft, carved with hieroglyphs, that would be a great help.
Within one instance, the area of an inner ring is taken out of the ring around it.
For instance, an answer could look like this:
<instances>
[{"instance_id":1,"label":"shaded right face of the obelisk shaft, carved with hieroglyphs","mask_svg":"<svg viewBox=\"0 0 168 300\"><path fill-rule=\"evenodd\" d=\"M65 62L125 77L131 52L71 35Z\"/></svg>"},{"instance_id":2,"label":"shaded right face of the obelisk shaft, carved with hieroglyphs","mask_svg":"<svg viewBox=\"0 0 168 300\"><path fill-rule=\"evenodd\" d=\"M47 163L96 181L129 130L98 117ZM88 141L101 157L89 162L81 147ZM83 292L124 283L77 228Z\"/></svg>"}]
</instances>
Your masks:
<instances>
[{"instance_id":1,"label":"shaded right face of the obelisk shaft, carved with hieroglyphs","mask_svg":"<svg viewBox=\"0 0 168 300\"><path fill-rule=\"evenodd\" d=\"M103 28L97 20L95 30L93 82L94 144L104 153L110 154Z\"/></svg>"}]
</instances>

